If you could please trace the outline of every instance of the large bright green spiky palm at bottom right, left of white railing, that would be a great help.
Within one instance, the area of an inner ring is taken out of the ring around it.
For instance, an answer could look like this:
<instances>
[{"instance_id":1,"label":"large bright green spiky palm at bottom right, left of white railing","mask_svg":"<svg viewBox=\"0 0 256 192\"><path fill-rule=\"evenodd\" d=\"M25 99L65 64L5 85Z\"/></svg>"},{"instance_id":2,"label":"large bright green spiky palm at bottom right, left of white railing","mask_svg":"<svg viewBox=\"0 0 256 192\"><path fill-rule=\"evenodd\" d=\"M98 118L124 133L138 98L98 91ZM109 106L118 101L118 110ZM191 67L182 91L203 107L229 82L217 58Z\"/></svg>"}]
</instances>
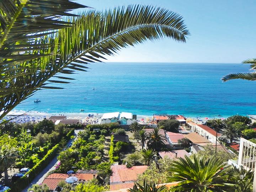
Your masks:
<instances>
[{"instance_id":1,"label":"large bright green spiky palm at bottom right, left of white railing","mask_svg":"<svg viewBox=\"0 0 256 192\"><path fill-rule=\"evenodd\" d=\"M174 189L179 188L183 192L230 191L231 175L226 174L226 171L231 168L223 169L224 166L225 163L215 156L209 159L204 156L198 158L194 155L193 159L185 156L184 159L173 161L169 182L179 182Z\"/></svg>"}]
</instances>

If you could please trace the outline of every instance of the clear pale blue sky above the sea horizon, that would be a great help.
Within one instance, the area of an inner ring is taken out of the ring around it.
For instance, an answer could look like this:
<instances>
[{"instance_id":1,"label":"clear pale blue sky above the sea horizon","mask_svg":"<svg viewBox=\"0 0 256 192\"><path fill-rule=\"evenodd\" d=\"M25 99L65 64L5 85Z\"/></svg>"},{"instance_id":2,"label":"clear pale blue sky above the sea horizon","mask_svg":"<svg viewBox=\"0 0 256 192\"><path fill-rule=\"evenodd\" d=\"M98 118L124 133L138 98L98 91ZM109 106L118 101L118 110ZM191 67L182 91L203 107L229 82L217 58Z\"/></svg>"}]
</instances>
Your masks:
<instances>
[{"instance_id":1,"label":"clear pale blue sky above the sea horizon","mask_svg":"<svg viewBox=\"0 0 256 192\"><path fill-rule=\"evenodd\" d=\"M96 10L143 4L182 15L191 35L145 42L107 57L108 62L241 63L256 58L255 0L77 0Z\"/></svg>"}]
</instances>

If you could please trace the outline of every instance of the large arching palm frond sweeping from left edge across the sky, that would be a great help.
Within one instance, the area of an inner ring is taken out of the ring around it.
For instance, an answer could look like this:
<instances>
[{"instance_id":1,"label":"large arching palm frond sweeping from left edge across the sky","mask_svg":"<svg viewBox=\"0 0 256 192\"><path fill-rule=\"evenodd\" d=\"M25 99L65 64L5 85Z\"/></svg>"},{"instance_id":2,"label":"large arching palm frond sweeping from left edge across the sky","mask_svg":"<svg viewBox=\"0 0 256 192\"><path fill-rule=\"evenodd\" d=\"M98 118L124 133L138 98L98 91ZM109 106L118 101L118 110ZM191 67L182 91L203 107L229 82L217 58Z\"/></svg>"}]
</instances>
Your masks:
<instances>
[{"instance_id":1,"label":"large arching palm frond sweeping from left edge across the sky","mask_svg":"<svg viewBox=\"0 0 256 192\"><path fill-rule=\"evenodd\" d=\"M33 0L27 1L33 2ZM56 0L56 2L59 1L62 0ZM41 3L41 1L36 2ZM59 2L59 4L62 3ZM53 8L50 7L47 11L55 11ZM36 11L34 14L31 7L26 7L26 9L30 10L29 15L41 14ZM73 74L77 70L86 71L87 64L101 62L105 59L103 57L105 55L114 55L122 48L143 43L148 39L153 41L167 37L178 42L186 42L189 35L182 16L153 6L135 5L118 7L105 12L88 11L83 12L80 17L66 17L59 22L74 24L54 34L46 33L43 37L41 33L26 36L26 39L32 40L26 41L25 48L18 49L25 55L22 54L19 57L0 55L0 58L4 58L2 62L0 61L1 70L6 71L0 76L0 87L4 87L0 89L0 109L3 112L0 119L39 89L63 88L50 86L50 83L65 84L69 83L67 80L73 80L61 74ZM19 20L17 23L22 22ZM38 28L38 25L33 26L33 30L26 27L24 30L14 28L20 33L16 37L13 31L10 41L14 42L14 38L17 41L25 38L25 33L37 32ZM10 41L5 41L4 46L8 47L12 44ZM14 43L15 47L20 46L18 43ZM38 50L35 44L45 46L39 46ZM5 52L0 50L0 53ZM38 54L42 54L43 57L39 57ZM11 60L7 62L7 59ZM50 79L52 77L55 79Z\"/></svg>"}]
</instances>

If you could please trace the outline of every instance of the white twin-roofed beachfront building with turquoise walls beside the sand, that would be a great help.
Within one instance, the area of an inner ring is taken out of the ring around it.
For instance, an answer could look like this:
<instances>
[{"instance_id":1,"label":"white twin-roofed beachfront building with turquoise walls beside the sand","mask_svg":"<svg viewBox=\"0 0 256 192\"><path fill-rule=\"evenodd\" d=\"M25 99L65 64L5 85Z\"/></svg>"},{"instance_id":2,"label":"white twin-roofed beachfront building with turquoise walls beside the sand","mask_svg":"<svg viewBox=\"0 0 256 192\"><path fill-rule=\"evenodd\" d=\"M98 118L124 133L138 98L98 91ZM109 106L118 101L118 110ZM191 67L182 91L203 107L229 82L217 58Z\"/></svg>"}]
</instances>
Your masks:
<instances>
[{"instance_id":1,"label":"white twin-roofed beachfront building with turquoise walls beside the sand","mask_svg":"<svg viewBox=\"0 0 256 192\"><path fill-rule=\"evenodd\" d=\"M133 122L136 122L136 116L133 116L132 113L126 112L113 112L113 113L104 113L101 117L101 124L106 123L119 123L121 125L130 125Z\"/></svg>"}]
</instances>

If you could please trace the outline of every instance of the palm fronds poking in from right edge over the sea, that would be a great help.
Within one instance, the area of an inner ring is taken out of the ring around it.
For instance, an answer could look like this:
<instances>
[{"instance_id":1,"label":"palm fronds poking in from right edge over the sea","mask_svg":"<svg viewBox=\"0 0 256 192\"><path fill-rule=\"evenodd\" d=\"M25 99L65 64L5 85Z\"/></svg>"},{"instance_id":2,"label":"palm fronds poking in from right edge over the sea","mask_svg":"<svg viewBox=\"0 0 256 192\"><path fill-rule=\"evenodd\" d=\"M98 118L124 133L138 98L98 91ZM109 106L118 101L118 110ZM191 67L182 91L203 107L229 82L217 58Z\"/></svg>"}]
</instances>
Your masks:
<instances>
[{"instance_id":1,"label":"palm fronds poking in from right edge over the sea","mask_svg":"<svg viewBox=\"0 0 256 192\"><path fill-rule=\"evenodd\" d=\"M222 80L229 81L233 79L244 79L249 81L255 81L256 80L256 58L254 59L247 59L242 62L242 64L251 64L251 70L254 70L252 73L231 73L222 78Z\"/></svg>"}]
</instances>

